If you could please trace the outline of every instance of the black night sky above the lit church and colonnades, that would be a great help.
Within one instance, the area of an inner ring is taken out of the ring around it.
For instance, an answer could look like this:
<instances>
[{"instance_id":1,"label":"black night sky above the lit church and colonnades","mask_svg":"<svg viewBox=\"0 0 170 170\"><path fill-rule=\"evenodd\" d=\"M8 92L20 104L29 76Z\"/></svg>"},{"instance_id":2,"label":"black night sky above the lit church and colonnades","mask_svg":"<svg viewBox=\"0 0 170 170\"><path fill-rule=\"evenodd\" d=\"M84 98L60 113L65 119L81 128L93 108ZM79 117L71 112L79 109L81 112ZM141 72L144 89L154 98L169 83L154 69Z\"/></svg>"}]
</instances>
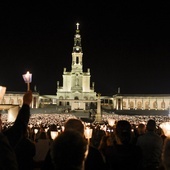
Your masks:
<instances>
[{"instance_id":1,"label":"black night sky above the lit church and colonnades","mask_svg":"<svg viewBox=\"0 0 170 170\"><path fill-rule=\"evenodd\" d=\"M169 2L108 2L0 2L0 85L24 91L30 71L32 89L55 95L79 22L83 70L97 93L170 94Z\"/></svg>"}]
</instances>

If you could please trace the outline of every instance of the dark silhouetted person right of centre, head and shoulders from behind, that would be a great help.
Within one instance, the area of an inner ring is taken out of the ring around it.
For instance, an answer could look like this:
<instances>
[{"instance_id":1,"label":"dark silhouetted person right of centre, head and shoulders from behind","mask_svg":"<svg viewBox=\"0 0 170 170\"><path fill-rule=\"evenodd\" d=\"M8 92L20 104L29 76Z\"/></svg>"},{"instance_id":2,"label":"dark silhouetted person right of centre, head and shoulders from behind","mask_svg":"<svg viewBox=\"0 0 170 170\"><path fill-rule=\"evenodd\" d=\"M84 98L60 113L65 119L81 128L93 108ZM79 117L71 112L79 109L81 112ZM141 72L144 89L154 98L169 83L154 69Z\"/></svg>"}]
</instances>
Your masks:
<instances>
[{"instance_id":1,"label":"dark silhouetted person right of centre, head and shoulders from behind","mask_svg":"<svg viewBox=\"0 0 170 170\"><path fill-rule=\"evenodd\" d=\"M131 139L131 124L126 120L119 120L115 128L115 142L107 146L104 152L108 170L140 169L142 152Z\"/></svg>"}]
</instances>

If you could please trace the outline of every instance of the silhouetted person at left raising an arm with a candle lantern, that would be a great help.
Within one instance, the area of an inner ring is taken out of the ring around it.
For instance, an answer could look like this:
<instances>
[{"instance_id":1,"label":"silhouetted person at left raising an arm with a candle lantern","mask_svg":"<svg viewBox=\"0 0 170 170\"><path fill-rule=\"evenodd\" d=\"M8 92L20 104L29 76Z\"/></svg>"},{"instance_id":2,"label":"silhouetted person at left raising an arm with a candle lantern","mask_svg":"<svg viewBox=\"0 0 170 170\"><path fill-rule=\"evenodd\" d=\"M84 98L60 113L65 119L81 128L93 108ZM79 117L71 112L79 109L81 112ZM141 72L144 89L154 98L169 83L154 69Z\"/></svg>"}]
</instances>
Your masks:
<instances>
[{"instance_id":1,"label":"silhouetted person at left raising an arm with a candle lantern","mask_svg":"<svg viewBox=\"0 0 170 170\"><path fill-rule=\"evenodd\" d=\"M27 91L23 96L23 104L22 107L19 109L14 125L10 128L3 130L3 133L1 134L0 143L4 147L2 148L0 146L0 153L3 153L0 157L0 164L5 164L5 166L8 167L2 168L2 170L19 169L19 163L17 162L17 154L15 152L15 149L19 147L20 142L23 140L25 132L27 131L28 122L30 118L31 102L32 91Z\"/></svg>"}]
</instances>

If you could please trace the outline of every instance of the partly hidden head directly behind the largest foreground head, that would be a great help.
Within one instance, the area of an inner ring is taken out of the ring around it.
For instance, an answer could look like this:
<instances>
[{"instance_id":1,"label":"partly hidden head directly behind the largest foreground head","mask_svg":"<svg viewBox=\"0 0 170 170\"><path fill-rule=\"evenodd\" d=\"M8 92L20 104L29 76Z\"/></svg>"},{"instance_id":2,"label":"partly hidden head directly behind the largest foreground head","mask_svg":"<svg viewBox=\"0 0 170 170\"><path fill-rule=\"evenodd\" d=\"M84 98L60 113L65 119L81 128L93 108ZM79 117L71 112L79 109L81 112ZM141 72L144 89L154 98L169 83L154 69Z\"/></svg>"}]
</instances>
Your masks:
<instances>
[{"instance_id":1,"label":"partly hidden head directly behind the largest foreground head","mask_svg":"<svg viewBox=\"0 0 170 170\"><path fill-rule=\"evenodd\" d=\"M70 118L65 122L64 131L76 130L84 135L84 124L80 119Z\"/></svg>"}]
</instances>

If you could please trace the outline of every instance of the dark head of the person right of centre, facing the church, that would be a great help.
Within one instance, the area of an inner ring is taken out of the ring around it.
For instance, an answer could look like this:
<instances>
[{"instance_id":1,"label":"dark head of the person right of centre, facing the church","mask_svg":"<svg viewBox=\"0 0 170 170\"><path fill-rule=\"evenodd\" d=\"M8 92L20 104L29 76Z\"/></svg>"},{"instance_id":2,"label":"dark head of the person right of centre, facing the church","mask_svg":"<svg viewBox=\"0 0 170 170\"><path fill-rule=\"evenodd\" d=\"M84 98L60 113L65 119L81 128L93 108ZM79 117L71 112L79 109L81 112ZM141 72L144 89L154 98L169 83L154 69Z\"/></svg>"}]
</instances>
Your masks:
<instances>
[{"instance_id":1,"label":"dark head of the person right of centre, facing the church","mask_svg":"<svg viewBox=\"0 0 170 170\"><path fill-rule=\"evenodd\" d=\"M115 129L116 142L129 144L131 141L131 124L127 120L119 120Z\"/></svg>"}]
</instances>

